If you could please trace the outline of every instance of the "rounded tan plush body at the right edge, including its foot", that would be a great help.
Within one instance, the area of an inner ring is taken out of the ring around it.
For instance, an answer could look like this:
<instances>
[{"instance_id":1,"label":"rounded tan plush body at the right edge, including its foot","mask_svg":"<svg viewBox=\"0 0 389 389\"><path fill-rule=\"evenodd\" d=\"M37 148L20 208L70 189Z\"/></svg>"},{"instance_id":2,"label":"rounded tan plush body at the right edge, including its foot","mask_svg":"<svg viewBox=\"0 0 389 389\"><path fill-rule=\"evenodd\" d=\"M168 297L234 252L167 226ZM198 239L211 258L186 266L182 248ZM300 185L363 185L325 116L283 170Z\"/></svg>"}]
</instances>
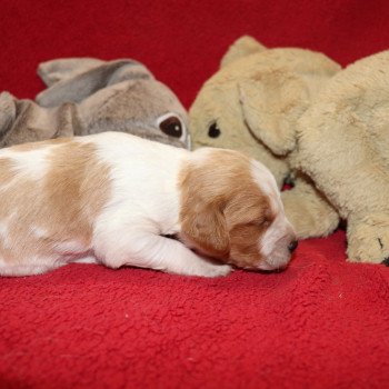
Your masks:
<instances>
[{"instance_id":1,"label":"rounded tan plush body at the right edge, including its foot","mask_svg":"<svg viewBox=\"0 0 389 389\"><path fill-rule=\"evenodd\" d=\"M389 50L335 76L288 137L282 153L347 220L350 260L389 266Z\"/></svg>"}]
</instances>

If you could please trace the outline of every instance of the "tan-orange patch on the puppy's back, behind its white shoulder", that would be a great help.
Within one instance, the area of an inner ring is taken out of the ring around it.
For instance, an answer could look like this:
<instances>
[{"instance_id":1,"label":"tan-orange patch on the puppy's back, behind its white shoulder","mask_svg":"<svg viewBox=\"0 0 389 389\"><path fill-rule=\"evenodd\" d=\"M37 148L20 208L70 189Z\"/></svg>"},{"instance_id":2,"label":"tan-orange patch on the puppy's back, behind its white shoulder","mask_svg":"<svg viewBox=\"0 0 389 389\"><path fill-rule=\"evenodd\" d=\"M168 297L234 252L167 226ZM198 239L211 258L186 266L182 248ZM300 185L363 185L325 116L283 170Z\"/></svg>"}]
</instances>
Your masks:
<instances>
[{"instance_id":1,"label":"tan-orange patch on the puppy's back, behind its white shoulder","mask_svg":"<svg viewBox=\"0 0 389 389\"><path fill-rule=\"evenodd\" d=\"M92 144L77 142L56 149L48 162L52 168L43 183L50 209L46 228L58 239L69 235L89 245L91 223L108 200L109 167L99 163Z\"/></svg>"}]
</instances>

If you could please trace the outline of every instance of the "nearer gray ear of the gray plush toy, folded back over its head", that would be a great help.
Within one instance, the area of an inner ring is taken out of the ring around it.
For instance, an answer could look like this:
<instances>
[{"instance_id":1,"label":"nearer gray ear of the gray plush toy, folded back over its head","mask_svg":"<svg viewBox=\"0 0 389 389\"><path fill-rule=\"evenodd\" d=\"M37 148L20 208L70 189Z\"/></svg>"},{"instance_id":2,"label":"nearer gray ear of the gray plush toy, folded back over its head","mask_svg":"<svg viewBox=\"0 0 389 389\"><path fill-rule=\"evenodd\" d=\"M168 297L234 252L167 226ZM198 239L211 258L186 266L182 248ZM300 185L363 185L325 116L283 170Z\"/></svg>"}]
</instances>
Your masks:
<instances>
[{"instance_id":1,"label":"nearer gray ear of the gray plush toy, folded back over its head","mask_svg":"<svg viewBox=\"0 0 389 389\"><path fill-rule=\"evenodd\" d=\"M136 79L153 79L153 76L143 64L133 60L103 62L54 83L39 93L36 100L42 107L57 107L63 102L80 102L108 86Z\"/></svg>"}]
</instances>

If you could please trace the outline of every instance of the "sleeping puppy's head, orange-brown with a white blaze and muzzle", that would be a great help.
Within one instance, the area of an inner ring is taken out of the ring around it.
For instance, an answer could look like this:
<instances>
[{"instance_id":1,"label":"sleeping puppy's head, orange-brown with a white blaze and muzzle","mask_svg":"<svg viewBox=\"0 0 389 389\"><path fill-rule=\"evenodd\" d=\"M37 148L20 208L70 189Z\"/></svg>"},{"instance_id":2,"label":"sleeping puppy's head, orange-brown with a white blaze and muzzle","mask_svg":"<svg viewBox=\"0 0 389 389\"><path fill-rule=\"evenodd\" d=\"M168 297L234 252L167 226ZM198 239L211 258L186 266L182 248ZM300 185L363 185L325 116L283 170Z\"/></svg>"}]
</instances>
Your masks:
<instances>
[{"instance_id":1,"label":"sleeping puppy's head, orange-brown with a white blaze and muzzle","mask_svg":"<svg viewBox=\"0 0 389 389\"><path fill-rule=\"evenodd\" d=\"M181 172L180 239L246 269L287 266L297 247L270 171L243 154L199 149Z\"/></svg>"}]
</instances>

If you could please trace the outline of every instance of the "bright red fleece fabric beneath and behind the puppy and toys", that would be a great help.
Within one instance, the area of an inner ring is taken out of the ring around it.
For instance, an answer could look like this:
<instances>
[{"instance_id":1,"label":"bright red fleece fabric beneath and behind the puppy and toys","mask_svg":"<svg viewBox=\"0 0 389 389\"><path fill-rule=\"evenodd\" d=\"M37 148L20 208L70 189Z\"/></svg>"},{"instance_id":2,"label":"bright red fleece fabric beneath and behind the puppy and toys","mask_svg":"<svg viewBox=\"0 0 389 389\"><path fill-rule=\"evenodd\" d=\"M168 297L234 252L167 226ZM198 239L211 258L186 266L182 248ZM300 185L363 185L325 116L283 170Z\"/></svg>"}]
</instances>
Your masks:
<instances>
[{"instance_id":1,"label":"bright red fleece fabric beneath and behind the puppy and toys","mask_svg":"<svg viewBox=\"0 0 389 389\"><path fill-rule=\"evenodd\" d=\"M59 57L138 59L189 107L241 34L342 64L389 43L387 1L1 0L0 12L0 89L20 98ZM345 249L343 231L307 240L279 275L72 265L2 278L0 387L388 388L389 269L347 263Z\"/></svg>"}]
</instances>

